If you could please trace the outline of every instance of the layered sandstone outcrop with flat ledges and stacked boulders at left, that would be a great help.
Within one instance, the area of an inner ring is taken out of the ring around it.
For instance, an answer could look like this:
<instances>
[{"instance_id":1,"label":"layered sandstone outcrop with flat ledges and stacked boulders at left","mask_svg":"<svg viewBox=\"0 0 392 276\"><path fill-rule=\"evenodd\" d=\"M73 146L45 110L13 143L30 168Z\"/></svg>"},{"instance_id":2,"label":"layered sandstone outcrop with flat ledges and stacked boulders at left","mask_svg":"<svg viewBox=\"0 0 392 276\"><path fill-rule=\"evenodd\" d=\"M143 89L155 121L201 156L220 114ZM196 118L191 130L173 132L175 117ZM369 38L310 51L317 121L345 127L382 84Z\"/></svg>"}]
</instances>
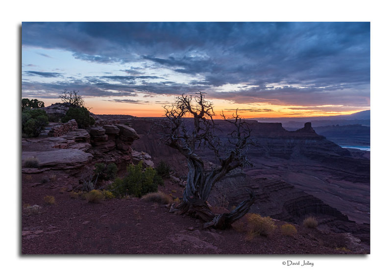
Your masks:
<instances>
[{"instance_id":1,"label":"layered sandstone outcrop with flat ledges and stacked boulders at left","mask_svg":"<svg viewBox=\"0 0 392 276\"><path fill-rule=\"evenodd\" d=\"M64 104L51 106L49 110L65 114L66 110L60 107L64 107ZM125 169L132 162L131 145L139 136L129 125L119 124L117 120L114 122L116 125L106 120L103 125L87 129L78 129L75 120L67 123L51 122L40 137L22 139L23 162L33 157L39 161L38 168L24 166L23 172L80 169L95 162L115 162L120 171ZM135 152L134 156L136 161L143 161L145 166L154 165L148 155Z\"/></svg>"}]
</instances>

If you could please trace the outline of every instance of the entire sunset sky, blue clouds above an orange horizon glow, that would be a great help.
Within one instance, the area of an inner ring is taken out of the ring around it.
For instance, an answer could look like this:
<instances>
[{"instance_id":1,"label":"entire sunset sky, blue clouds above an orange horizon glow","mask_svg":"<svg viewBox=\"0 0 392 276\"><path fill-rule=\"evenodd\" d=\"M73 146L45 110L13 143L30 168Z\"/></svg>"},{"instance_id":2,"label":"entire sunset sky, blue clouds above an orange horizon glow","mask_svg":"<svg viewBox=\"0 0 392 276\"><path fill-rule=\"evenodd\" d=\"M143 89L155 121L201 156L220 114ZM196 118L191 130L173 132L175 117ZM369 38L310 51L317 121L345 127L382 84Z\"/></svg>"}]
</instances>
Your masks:
<instances>
[{"instance_id":1,"label":"entire sunset sky, blue clouds above an orange horizon glow","mask_svg":"<svg viewBox=\"0 0 392 276\"><path fill-rule=\"evenodd\" d=\"M205 92L219 115L370 109L368 22L22 23L22 98L79 91L95 114L162 116Z\"/></svg>"}]
</instances>

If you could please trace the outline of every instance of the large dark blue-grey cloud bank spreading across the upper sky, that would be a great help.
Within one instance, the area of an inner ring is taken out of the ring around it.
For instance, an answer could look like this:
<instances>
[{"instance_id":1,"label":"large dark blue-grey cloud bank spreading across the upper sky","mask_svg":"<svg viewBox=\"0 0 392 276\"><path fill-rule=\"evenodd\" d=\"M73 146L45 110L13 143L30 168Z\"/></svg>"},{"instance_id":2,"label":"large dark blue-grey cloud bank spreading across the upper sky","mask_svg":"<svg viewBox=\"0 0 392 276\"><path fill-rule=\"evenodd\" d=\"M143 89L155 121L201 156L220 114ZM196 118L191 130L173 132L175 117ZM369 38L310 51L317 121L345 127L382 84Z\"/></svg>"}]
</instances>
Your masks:
<instances>
[{"instance_id":1,"label":"large dark blue-grey cloud bank spreading across the upper sky","mask_svg":"<svg viewBox=\"0 0 392 276\"><path fill-rule=\"evenodd\" d=\"M189 84L142 85L132 83L133 76L113 76L135 92L196 88L235 102L287 105L366 106L369 99L369 23L23 23L22 44L68 50L91 62L149 62L200 76ZM224 84L242 88L214 90Z\"/></svg>"}]
</instances>

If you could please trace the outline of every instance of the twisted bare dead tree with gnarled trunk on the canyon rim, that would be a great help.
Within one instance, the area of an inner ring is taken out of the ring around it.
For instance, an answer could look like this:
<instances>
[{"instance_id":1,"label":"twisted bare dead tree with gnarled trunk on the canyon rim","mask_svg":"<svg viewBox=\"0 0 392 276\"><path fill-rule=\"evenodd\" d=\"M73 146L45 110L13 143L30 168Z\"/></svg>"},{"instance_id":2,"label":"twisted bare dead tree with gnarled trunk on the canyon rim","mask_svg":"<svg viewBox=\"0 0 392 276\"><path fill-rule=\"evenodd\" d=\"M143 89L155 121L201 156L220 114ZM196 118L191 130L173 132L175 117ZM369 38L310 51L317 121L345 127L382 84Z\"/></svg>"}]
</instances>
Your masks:
<instances>
[{"instance_id":1,"label":"twisted bare dead tree with gnarled trunk on the canyon rim","mask_svg":"<svg viewBox=\"0 0 392 276\"><path fill-rule=\"evenodd\" d=\"M165 143L186 157L189 168L183 199L178 206L173 204L171 211L196 216L205 222L204 227L229 227L247 213L254 203L254 192L250 190L249 199L230 213L215 214L206 202L215 183L229 171L249 164L246 151L252 141L248 124L237 112L229 118L222 113L223 120L232 127L224 145L217 135L213 105L204 99L203 92L195 96L182 94L164 108L167 122L164 128ZM219 163L216 168L205 170L204 161L196 153L200 147L214 152Z\"/></svg>"}]
</instances>

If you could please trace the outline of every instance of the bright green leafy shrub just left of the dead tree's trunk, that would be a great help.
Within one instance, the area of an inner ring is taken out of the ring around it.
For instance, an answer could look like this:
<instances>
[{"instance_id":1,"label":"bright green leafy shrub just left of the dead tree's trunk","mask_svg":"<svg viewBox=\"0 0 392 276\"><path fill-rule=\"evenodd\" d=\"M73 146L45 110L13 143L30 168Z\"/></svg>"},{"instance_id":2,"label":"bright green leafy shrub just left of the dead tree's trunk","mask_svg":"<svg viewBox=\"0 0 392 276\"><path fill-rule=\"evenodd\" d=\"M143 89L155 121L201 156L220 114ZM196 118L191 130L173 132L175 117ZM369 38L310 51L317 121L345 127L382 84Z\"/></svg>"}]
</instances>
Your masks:
<instances>
[{"instance_id":1,"label":"bright green leafy shrub just left of the dead tree's trunk","mask_svg":"<svg viewBox=\"0 0 392 276\"><path fill-rule=\"evenodd\" d=\"M156 171L151 167L147 167L143 170L142 161L137 165L130 164L127 167L124 178L116 178L109 189L115 196L133 195L142 197L147 193L156 192L158 190L158 183L156 182L155 175Z\"/></svg>"}]
</instances>

